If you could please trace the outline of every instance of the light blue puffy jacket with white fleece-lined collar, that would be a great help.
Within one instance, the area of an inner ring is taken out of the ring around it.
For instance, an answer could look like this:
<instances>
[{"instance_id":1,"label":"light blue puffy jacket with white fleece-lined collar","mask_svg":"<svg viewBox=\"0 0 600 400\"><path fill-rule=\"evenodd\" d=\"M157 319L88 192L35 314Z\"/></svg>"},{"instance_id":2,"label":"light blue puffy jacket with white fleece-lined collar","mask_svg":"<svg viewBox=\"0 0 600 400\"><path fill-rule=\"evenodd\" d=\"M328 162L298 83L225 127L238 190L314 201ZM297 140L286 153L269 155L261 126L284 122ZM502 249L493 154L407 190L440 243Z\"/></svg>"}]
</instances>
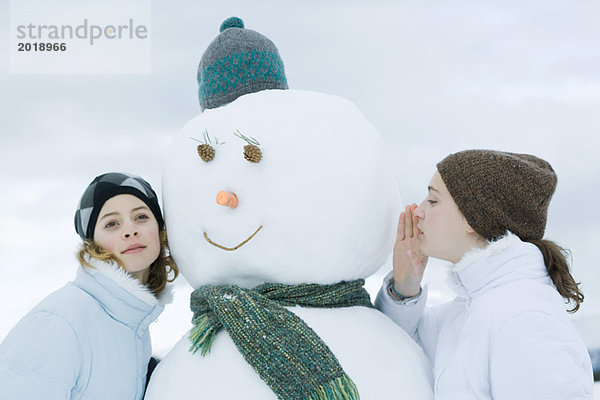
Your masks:
<instances>
[{"instance_id":1,"label":"light blue puffy jacket with white fleece-lined collar","mask_svg":"<svg viewBox=\"0 0 600 400\"><path fill-rule=\"evenodd\" d=\"M140 400L148 326L163 304L114 264L93 261L0 344L0 398ZM164 297L164 296L161 296Z\"/></svg>"}]
</instances>

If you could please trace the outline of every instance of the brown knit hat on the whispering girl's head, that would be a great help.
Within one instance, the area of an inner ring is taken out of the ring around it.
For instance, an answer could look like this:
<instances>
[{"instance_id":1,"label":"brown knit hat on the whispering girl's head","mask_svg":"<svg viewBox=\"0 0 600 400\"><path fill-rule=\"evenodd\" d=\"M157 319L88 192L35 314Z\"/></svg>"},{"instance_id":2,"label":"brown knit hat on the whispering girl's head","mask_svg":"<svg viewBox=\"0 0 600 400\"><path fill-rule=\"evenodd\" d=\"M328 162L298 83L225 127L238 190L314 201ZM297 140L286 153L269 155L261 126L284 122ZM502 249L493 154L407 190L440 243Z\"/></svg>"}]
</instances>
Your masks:
<instances>
[{"instance_id":1,"label":"brown knit hat on the whispering girl's head","mask_svg":"<svg viewBox=\"0 0 600 400\"><path fill-rule=\"evenodd\" d=\"M488 240L506 230L531 241L544 237L557 177L530 154L466 150L437 164L450 195L471 227Z\"/></svg>"}]
</instances>

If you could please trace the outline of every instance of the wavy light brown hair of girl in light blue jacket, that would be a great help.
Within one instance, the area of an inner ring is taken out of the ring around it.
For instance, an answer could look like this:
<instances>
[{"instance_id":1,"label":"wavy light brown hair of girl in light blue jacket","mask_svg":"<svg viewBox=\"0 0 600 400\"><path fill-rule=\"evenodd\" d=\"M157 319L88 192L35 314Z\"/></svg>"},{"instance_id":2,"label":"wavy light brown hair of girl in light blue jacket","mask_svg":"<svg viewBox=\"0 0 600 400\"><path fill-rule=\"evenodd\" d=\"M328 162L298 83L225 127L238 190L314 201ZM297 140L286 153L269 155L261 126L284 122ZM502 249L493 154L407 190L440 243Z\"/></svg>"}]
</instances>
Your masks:
<instances>
[{"instance_id":1,"label":"wavy light brown hair of girl in light blue jacket","mask_svg":"<svg viewBox=\"0 0 600 400\"><path fill-rule=\"evenodd\" d=\"M150 265L150 274L148 276L148 282L146 283L146 287L154 294L154 296L158 296L167 285L167 282L173 282L179 275L179 268L177 268L177 265L169 252L167 231L161 230L158 234L160 237L160 254ZM81 248L77 252L77 259L83 267L94 268L86 261L85 255L94 257L100 261L114 261L123 268L123 264L114 254L104 250L92 240L85 239L83 241ZM173 277L169 279L169 275L171 274Z\"/></svg>"}]
</instances>

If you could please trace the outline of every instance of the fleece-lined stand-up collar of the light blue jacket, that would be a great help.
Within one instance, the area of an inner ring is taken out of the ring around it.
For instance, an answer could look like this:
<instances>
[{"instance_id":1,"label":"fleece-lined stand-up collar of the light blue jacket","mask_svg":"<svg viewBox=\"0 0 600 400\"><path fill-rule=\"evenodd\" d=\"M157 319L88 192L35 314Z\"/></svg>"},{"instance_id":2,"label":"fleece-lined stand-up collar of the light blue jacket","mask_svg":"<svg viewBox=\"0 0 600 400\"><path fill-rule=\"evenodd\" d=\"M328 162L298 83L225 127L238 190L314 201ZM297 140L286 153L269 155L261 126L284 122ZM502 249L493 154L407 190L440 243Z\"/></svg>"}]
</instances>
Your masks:
<instances>
[{"instance_id":1,"label":"fleece-lined stand-up collar of the light blue jacket","mask_svg":"<svg viewBox=\"0 0 600 400\"><path fill-rule=\"evenodd\" d=\"M157 299L116 263L92 257L86 261L93 268L80 267L73 283L94 297L112 318L140 335L156 320L164 305L172 301L170 285Z\"/></svg>"}]
</instances>

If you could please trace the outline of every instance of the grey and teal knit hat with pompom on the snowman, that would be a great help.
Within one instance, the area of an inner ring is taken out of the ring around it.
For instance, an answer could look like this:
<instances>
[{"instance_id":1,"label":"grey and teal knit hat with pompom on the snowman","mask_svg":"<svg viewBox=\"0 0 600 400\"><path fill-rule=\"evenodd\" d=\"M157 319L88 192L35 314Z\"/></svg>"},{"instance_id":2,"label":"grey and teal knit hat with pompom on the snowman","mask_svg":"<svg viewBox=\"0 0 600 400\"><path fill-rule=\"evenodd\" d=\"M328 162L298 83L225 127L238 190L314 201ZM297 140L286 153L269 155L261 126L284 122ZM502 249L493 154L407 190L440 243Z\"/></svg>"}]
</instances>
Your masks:
<instances>
[{"instance_id":1,"label":"grey and teal knit hat with pompom on the snowman","mask_svg":"<svg viewBox=\"0 0 600 400\"><path fill-rule=\"evenodd\" d=\"M217 108L266 89L287 89L283 61L268 38L231 17L208 46L198 66L200 108Z\"/></svg>"}]
</instances>

